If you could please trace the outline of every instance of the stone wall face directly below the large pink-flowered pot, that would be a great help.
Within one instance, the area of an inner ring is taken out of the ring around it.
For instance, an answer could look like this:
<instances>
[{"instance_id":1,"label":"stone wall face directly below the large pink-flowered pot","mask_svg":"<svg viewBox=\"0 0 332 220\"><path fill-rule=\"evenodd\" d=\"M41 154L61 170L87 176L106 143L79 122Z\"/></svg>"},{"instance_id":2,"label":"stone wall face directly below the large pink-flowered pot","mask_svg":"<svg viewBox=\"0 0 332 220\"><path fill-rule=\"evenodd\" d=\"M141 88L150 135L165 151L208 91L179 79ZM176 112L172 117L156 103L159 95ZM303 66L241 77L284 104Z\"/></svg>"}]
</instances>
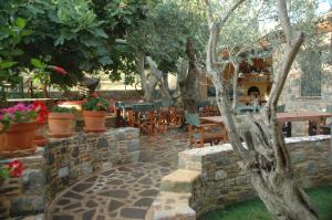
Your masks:
<instances>
[{"instance_id":1,"label":"stone wall face directly below the large pink-flowered pot","mask_svg":"<svg viewBox=\"0 0 332 220\"><path fill-rule=\"evenodd\" d=\"M12 160L23 164L20 178L8 178L0 182L0 219L44 212L46 202L46 160L41 155L0 159L0 166L7 167Z\"/></svg>"}]
</instances>

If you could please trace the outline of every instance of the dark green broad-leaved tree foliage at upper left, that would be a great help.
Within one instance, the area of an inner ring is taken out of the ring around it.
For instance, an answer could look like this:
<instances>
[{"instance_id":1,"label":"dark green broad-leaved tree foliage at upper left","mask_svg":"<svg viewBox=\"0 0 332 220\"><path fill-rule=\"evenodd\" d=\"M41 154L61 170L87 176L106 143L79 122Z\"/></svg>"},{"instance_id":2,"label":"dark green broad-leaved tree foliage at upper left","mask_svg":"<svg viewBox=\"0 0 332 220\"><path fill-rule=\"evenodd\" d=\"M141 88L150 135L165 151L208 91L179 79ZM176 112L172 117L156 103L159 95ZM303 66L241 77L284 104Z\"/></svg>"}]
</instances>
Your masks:
<instances>
[{"instance_id":1,"label":"dark green broad-leaved tree foliage at upper left","mask_svg":"<svg viewBox=\"0 0 332 220\"><path fill-rule=\"evenodd\" d=\"M33 32L18 45L25 52L19 63L50 57L50 63L71 73L65 81L71 85L83 72L105 69L118 75L126 70L129 62L125 59L133 57L116 39L125 38L144 19L144 0L8 0L0 2L0 22L9 27L12 20L24 18Z\"/></svg>"}]
</instances>

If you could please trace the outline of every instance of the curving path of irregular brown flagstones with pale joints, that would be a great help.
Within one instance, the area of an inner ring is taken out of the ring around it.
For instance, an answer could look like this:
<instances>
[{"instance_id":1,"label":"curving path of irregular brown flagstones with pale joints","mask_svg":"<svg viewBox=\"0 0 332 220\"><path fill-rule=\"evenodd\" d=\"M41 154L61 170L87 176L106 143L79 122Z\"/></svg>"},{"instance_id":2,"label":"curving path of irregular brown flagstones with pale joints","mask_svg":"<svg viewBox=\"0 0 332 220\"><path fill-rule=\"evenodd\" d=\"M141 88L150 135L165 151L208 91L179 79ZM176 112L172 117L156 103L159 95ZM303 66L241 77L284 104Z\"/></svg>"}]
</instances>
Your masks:
<instances>
[{"instance_id":1,"label":"curving path of irregular brown flagstones with pale joints","mask_svg":"<svg viewBox=\"0 0 332 220\"><path fill-rule=\"evenodd\" d=\"M159 192L162 177L177 169L177 153L188 148L186 133L142 137L139 163L121 165L73 185L54 200L50 219L144 219Z\"/></svg>"}]
</instances>

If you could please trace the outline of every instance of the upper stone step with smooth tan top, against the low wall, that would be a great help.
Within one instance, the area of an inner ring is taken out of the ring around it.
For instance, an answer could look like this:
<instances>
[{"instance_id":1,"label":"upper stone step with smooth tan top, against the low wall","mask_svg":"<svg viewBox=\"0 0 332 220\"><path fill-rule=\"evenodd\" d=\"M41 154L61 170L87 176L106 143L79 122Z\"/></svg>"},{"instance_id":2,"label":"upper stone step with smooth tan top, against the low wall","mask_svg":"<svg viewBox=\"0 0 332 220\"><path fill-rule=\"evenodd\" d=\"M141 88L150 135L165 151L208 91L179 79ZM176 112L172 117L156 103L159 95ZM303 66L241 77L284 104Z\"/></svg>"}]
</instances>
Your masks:
<instances>
[{"instance_id":1,"label":"upper stone step with smooth tan top, against the low wall","mask_svg":"<svg viewBox=\"0 0 332 220\"><path fill-rule=\"evenodd\" d=\"M191 192L199 171L177 169L162 179L160 191Z\"/></svg>"}]
</instances>

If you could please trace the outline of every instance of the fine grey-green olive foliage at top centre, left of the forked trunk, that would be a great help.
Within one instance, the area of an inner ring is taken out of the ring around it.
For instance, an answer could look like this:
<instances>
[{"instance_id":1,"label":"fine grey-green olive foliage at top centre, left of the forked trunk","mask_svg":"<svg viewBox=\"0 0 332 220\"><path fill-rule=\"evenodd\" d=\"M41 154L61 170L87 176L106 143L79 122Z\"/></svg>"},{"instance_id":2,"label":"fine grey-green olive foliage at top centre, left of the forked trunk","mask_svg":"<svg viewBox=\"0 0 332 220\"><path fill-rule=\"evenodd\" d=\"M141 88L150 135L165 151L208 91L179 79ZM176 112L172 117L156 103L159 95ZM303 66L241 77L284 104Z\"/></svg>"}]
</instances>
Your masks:
<instances>
[{"instance_id":1,"label":"fine grey-green olive foliage at top centre, left of the forked trunk","mask_svg":"<svg viewBox=\"0 0 332 220\"><path fill-rule=\"evenodd\" d=\"M204 51L205 28L199 1L162 0L151 6L146 19L128 35L128 43L137 54L152 56L160 71L176 72L177 60L186 57L188 38Z\"/></svg>"}]
</instances>

